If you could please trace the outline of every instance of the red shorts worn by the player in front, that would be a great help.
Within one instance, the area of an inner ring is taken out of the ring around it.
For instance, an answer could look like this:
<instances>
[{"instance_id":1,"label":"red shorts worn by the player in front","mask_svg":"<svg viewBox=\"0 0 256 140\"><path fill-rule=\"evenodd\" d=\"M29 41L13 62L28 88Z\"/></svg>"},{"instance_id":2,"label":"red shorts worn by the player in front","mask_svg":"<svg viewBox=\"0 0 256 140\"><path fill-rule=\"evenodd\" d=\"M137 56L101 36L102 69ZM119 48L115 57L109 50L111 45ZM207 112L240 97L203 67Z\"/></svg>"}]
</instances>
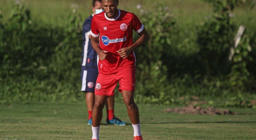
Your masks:
<instances>
[{"instance_id":1,"label":"red shorts worn by the player in front","mask_svg":"<svg viewBox=\"0 0 256 140\"><path fill-rule=\"evenodd\" d=\"M119 92L123 90L135 91L135 69L125 68L113 74L101 74L99 73L96 85L95 95L112 96L114 95L114 89L119 82Z\"/></svg>"}]
</instances>

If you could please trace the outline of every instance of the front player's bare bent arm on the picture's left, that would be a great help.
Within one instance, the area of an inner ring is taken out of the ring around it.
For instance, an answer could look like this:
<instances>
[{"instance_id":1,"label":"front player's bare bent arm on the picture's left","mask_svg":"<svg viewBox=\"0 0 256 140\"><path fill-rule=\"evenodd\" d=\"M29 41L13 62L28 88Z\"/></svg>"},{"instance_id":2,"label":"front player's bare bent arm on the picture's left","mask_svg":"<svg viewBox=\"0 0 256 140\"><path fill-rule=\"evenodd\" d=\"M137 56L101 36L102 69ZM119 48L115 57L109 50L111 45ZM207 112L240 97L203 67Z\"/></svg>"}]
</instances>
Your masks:
<instances>
[{"instance_id":1,"label":"front player's bare bent arm on the picture's left","mask_svg":"<svg viewBox=\"0 0 256 140\"><path fill-rule=\"evenodd\" d=\"M97 52L99 59L104 60L107 57L107 52L106 50L101 50L99 47L99 37L93 37L91 36L91 46L92 48Z\"/></svg>"}]
</instances>

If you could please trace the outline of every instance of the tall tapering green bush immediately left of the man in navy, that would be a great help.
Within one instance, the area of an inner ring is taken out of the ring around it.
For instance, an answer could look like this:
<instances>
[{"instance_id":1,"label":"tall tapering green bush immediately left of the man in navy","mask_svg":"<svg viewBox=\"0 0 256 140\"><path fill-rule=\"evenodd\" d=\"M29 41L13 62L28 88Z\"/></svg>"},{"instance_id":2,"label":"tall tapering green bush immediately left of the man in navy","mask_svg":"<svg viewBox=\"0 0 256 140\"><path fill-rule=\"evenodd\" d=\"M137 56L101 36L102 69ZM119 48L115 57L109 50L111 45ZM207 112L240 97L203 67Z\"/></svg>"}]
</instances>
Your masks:
<instances>
[{"instance_id":1,"label":"tall tapering green bush immediately left of the man in navy","mask_svg":"<svg viewBox=\"0 0 256 140\"><path fill-rule=\"evenodd\" d=\"M73 9L68 17L67 27L64 30L64 39L55 48L52 56L51 73L56 81L68 81L71 84L78 82L80 77L80 59L82 36L81 15Z\"/></svg>"}]
</instances>

